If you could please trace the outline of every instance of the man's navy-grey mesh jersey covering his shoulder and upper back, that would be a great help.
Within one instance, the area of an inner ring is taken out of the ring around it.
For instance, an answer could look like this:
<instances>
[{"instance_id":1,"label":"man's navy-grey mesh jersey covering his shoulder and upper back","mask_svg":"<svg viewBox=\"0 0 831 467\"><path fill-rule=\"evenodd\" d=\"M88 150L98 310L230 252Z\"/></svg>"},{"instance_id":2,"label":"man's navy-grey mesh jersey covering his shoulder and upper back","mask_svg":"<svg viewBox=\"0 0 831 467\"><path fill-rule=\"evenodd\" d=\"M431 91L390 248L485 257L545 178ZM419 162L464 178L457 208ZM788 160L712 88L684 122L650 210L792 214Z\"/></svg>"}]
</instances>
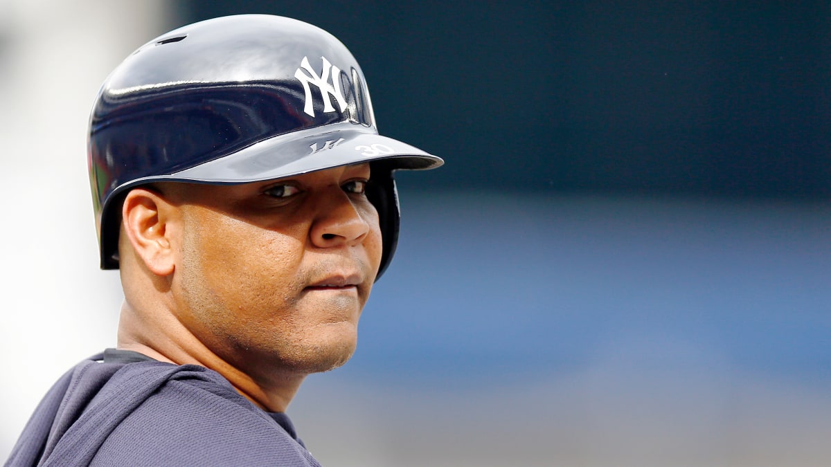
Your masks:
<instances>
[{"instance_id":1,"label":"man's navy-grey mesh jersey covering his shoulder and upper back","mask_svg":"<svg viewBox=\"0 0 831 467\"><path fill-rule=\"evenodd\" d=\"M53 407L41 418L54 419L42 441L44 465L317 465L215 371L98 357L74 367L47 397Z\"/></svg>"}]
</instances>

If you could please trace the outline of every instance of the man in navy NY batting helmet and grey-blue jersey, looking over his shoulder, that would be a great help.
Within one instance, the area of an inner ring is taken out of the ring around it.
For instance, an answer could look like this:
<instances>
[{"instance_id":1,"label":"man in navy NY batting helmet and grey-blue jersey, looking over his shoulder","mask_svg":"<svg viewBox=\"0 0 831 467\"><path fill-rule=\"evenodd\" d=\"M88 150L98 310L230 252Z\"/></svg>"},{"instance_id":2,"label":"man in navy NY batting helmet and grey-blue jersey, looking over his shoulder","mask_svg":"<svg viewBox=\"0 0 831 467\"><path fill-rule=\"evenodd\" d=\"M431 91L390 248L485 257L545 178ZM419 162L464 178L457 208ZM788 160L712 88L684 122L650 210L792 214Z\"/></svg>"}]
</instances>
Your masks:
<instances>
[{"instance_id":1,"label":"man in navy NY batting helmet and grey-blue jersey, looking over his shoulder","mask_svg":"<svg viewBox=\"0 0 831 467\"><path fill-rule=\"evenodd\" d=\"M352 356L396 246L393 170L442 161L377 134L336 38L266 15L128 57L89 158L118 348L53 386L7 465L317 465L284 410Z\"/></svg>"}]
</instances>

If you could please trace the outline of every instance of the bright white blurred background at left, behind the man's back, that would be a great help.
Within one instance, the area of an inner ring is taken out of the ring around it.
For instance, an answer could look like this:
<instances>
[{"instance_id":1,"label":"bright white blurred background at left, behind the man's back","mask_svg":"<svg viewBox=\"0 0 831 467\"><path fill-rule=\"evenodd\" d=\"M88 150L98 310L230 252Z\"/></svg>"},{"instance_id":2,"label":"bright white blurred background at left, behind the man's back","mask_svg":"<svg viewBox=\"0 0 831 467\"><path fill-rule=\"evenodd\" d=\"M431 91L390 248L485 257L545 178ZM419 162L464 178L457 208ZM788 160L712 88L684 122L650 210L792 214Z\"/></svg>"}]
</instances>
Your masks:
<instances>
[{"instance_id":1,"label":"bright white blurred background at left, behind the man's back","mask_svg":"<svg viewBox=\"0 0 831 467\"><path fill-rule=\"evenodd\" d=\"M101 82L165 18L160 1L0 0L0 457L57 376L115 345L122 295L96 266L86 125Z\"/></svg>"}]
</instances>

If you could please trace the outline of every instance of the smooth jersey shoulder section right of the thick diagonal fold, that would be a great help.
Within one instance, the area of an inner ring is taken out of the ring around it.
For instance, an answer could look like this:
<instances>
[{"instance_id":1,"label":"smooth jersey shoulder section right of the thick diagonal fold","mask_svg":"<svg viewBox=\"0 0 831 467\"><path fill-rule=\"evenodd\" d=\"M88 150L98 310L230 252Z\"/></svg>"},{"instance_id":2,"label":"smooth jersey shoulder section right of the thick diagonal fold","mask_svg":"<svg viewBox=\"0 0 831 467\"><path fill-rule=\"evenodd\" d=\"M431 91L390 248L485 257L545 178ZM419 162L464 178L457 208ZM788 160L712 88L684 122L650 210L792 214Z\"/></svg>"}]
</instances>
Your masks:
<instances>
[{"instance_id":1,"label":"smooth jersey shoulder section right of the thick diagonal fold","mask_svg":"<svg viewBox=\"0 0 831 467\"><path fill-rule=\"evenodd\" d=\"M94 465L125 460L131 465L317 465L282 426L214 371L178 366L167 374L140 362L124 372L129 374L114 377L113 389L146 372L164 382L114 426Z\"/></svg>"}]
</instances>

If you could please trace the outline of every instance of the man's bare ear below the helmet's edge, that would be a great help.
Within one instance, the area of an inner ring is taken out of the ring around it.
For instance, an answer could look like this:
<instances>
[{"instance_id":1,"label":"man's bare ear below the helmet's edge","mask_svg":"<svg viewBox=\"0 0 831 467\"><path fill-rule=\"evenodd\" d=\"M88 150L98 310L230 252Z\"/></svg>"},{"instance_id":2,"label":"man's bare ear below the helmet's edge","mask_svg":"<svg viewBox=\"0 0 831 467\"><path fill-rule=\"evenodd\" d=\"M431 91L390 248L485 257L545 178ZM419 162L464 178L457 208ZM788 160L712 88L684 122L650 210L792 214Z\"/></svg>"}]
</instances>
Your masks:
<instances>
[{"instance_id":1,"label":"man's bare ear below the helmet's edge","mask_svg":"<svg viewBox=\"0 0 831 467\"><path fill-rule=\"evenodd\" d=\"M177 214L177 207L162 194L145 188L131 189L121 208L123 234L136 257L158 276L168 276L175 269L175 239L171 235L176 229L171 229L170 223Z\"/></svg>"}]
</instances>

